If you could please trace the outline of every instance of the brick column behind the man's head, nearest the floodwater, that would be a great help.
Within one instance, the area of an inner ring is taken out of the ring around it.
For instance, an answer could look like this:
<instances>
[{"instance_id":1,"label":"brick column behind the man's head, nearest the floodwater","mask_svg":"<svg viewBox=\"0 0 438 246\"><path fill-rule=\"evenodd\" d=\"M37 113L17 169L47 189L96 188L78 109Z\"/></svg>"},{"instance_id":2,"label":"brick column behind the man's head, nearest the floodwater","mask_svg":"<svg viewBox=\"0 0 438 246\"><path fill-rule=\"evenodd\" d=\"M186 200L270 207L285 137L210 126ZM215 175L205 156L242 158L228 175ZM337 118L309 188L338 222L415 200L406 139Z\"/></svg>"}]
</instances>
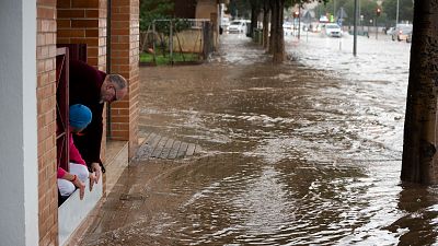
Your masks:
<instances>
[{"instance_id":1,"label":"brick column behind the man's head, nearest the floodwater","mask_svg":"<svg viewBox=\"0 0 438 246\"><path fill-rule=\"evenodd\" d=\"M128 94L112 104L111 136L129 141L129 156L138 145L139 0L112 0L111 72L128 81Z\"/></svg>"}]
</instances>

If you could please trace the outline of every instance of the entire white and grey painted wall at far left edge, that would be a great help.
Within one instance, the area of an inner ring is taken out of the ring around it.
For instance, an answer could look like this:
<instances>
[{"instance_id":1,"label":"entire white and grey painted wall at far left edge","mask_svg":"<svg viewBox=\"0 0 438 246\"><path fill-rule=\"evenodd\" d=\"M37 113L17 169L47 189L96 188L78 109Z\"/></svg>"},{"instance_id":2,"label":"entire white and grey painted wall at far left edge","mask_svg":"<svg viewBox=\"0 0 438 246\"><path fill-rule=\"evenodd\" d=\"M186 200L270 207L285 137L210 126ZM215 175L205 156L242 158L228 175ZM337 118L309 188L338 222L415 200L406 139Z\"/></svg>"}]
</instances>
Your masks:
<instances>
[{"instance_id":1,"label":"entire white and grey painted wall at far left edge","mask_svg":"<svg viewBox=\"0 0 438 246\"><path fill-rule=\"evenodd\" d=\"M0 1L0 245L38 245L36 0Z\"/></svg>"}]
</instances>

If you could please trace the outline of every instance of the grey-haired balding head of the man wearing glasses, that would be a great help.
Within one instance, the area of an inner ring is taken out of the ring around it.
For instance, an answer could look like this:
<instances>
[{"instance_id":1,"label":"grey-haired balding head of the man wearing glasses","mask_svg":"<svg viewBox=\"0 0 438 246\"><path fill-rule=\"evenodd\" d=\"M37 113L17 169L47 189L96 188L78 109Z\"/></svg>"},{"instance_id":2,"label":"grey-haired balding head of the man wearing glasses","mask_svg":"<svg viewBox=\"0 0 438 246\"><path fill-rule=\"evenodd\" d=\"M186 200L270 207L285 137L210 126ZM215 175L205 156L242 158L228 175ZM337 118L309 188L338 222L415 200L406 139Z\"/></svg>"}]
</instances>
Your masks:
<instances>
[{"instance_id":1,"label":"grey-haired balding head of the man wearing glasses","mask_svg":"<svg viewBox=\"0 0 438 246\"><path fill-rule=\"evenodd\" d=\"M101 86L101 103L119 101L127 92L125 78L119 74L107 74Z\"/></svg>"}]
</instances>

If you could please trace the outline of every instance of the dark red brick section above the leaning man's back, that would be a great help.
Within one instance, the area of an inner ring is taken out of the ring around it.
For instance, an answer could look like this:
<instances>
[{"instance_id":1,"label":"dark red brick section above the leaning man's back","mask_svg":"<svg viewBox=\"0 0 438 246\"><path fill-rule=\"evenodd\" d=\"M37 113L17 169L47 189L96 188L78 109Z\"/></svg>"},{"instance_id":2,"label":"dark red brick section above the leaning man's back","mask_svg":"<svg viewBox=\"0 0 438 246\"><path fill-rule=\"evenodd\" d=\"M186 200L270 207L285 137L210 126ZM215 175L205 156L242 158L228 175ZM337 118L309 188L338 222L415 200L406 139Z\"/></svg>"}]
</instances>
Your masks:
<instances>
[{"instance_id":1,"label":"dark red brick section above the leaning man's back","mask_svg":"<svg viewBox=\"0 0 438 246\"><path fill-rule=\"evenodd\" d=\"M106 70L106 0L58 0L58 44L87 44L88 63Z\"/></svg>"}]
</instances>

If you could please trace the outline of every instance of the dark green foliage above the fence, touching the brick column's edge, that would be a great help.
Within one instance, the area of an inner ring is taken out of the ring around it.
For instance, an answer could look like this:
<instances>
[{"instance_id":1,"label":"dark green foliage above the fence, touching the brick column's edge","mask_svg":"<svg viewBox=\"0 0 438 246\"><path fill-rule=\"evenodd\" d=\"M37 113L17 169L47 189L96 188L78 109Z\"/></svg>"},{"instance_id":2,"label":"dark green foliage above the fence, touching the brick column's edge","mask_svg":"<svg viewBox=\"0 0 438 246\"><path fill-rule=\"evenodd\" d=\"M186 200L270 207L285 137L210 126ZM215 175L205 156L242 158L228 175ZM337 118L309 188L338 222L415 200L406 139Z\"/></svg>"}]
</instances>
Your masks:
<instances>
[{"instance_id":1,"label":"dark green foliage above the fence, touching the brick column's edge","mask_svg":"<svg viewBox=\"0 0 438 246\"><path fill-rule=\"evenodd\" d=\"M141 0L140 31L147 31L153 20L169 19L174 10L172 0Z\"/></svg>"}]
</instances>

